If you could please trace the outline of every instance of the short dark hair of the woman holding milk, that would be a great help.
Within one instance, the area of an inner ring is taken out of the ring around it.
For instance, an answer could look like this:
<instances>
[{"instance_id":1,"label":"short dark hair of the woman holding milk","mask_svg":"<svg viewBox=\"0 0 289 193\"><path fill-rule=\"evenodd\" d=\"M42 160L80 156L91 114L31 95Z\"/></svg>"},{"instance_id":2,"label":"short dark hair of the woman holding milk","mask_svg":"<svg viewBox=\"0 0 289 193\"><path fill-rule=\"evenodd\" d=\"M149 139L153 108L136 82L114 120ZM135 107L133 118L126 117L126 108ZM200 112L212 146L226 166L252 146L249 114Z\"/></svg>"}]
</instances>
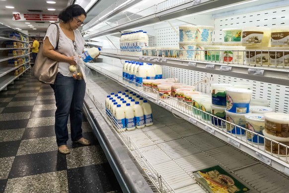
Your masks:
<instances>
[{"instance_id":1,"label":"short dark hair of the woman holding milk","mask_svg":"<svg viewBox=\"0 0 289 193\"><path fill-rule=\"evenodd\" d=\"M69 21L72 21L73 17L77 17L82 14L86 17L86 12L80 5L72 4L63 9L59 13L58 18L63 20L64 23L67 23Z\"/></svg>"}]
</instances>

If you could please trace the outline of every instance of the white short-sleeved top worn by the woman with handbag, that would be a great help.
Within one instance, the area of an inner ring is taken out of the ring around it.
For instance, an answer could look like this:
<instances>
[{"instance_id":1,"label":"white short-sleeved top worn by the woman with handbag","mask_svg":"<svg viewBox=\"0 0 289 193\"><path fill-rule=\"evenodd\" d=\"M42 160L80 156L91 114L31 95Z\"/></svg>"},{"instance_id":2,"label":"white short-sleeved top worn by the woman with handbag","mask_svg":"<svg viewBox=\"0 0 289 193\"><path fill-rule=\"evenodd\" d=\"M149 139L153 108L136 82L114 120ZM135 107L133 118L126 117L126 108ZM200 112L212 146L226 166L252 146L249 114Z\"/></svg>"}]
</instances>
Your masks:
<instances>
[{"instance_id":1,"label":"white short-sleeved top worn by the woman with handbag","mask_svg":"<svg viewBox=\"0 0 289 193\"><path fill-rule=\"evenodd\" d=\"M59 26L59 23L57 23ZM74 41L76 43L76 53L80 55L84 50L84 39L80 34L78 29L73 30L74 32ZM56 39L57 27L54 24L51 24L46 32L46 35L43 39L45 40L46 37L49 38L50 43L53 47L56 47L57 39ZM71 39L69 39L62 31L61 27L59 26L59 43L58 43L58 51L65 56L72 56L73 52L75 52L75 48ZM59 62L58 63L58 72L61 73L63 76L70 77L69 75L69 66L70 64L67 62Z\"/></svg>"}]
</instances>

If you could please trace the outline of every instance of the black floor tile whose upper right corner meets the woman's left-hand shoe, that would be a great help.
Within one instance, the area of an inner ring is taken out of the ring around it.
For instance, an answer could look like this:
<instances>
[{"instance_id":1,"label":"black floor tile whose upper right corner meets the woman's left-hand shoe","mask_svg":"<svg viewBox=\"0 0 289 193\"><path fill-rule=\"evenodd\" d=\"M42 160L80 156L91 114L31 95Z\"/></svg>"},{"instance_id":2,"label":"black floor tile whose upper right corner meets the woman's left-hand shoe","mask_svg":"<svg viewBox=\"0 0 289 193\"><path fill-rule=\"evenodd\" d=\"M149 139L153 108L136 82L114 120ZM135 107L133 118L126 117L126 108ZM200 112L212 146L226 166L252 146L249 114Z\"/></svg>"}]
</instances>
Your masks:
<instances>
[{"instance_id":1,"label":"black floor tile whose upper right corner meets the woman's left-hand shoe","mask_svg":"<svg viewBox=\"0 0 289 193\"><path fill-rule=\"evenodd\" d=\"M66 155L58 151L16 156L9 179L67 170Z\"/></svg>"}]
</instances>

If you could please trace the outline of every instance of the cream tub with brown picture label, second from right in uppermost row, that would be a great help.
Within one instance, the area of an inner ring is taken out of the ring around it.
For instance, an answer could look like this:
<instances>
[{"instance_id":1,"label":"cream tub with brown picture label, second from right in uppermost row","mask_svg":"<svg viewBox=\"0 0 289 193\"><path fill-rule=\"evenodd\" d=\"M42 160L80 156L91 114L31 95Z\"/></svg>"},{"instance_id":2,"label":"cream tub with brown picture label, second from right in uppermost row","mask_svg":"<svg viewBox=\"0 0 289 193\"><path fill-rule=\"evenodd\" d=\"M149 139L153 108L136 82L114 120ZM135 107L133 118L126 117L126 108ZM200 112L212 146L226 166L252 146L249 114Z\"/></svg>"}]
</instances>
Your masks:
<instances>
[{"instance_id":1,"label":"cream tub with brown picture label, second from right in uppermost row","mask_svg":"<svg viewBox=\"0 0 289 193\"><path fill-rule=\"evenodd\" d=\"M268 27L243 27L242 46L268 47L271 30Z\"/></svg>"}]
</instances>

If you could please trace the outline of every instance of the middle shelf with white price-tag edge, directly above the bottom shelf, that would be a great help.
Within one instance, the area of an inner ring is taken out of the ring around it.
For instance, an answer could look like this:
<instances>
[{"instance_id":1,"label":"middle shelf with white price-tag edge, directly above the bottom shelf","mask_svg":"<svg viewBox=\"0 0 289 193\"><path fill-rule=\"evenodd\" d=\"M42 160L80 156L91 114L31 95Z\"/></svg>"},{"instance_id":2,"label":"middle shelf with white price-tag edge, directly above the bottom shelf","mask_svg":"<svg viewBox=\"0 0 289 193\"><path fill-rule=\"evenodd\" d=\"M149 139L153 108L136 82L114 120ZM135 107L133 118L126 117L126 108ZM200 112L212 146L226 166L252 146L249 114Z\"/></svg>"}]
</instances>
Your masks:
<instances>
[{"instance_id":1,"label":"middle shelf with white price-tag edge, directly above the bottom shelf","mask_svg":"<svg viewBox=\"0 0 289 193\"><path fill-rule=\"evenodd\" d=\"M230 145L233 145L237 149L249 154L250 156L258 160L267 162L267 164L270 165L271 167L289 176L289 156L280 157L272 153L268 153L265 151L264 145L253 145L247 141L246 137L240 137L228 133L223 129L215 127L214 125L212 125L210 121L207 122L202 120L200 118L200 115L198 117L192 114L188 114L187 111L181 110L177 108L175 105L172 105L174 104L174 101L172 101L173 99L161 100L157 97L158 96L157 94L145 93L143 91L140 91L133 85L130 85L122 80L122 68L120 67L116 67L105 63L87 63L87 66L103 74L104 76L112 79L119 85L130 89L131 91L137 93L138 95L144 98L147 98L148 100L157 104L158 106L161 106L167 109L168 111L172 112L173 114L189 121L190 123L203 129L204 131L209 132L210 134L216 136L218 139L221 139L222 141Z\"/></svg>"}]
</instances>

